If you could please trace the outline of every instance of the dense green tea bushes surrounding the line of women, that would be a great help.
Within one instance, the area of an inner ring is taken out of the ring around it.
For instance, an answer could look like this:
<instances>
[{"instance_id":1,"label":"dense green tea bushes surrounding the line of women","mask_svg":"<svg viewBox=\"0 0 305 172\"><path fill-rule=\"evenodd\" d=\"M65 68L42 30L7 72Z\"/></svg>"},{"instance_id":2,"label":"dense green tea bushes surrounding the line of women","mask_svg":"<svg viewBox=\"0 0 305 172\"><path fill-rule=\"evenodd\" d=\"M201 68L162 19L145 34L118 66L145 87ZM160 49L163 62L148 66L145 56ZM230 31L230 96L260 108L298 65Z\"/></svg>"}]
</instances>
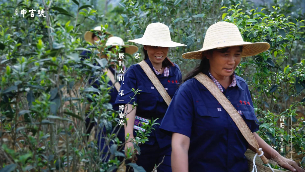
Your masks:
<instances>
[{"instance_id":1,"label":"dense green tea bushes surrounding the line of women","mask_svg":"<svg viewBox=\"0 0 305 172\"><path fill-rule=\"evenodd\" d=\"M126 158L117 150L122 142L110 132L119 127L118 113L107 103L109 79L101 70L110 64L98 58L97 49L103 48L105 41L98 47L92 46L84 41L84 32L102 24L104 31L127 42L142 37L146 26L153 22L166 24L172 40L187 45L170 48L168 53L183 76L199 61L182 59L182 53L201 49L207 28L217 21L236 24L245 41L268 42L271 45L268 51L243 58L235 72L249 85L260 121L257 133L277 151L283 134L281 154L305 167L303 1L2 0L0 3L0 168L4 167L1 172L112 171L124 166L117 159ZM20 14L22 9L27 10L24 17ZM36 10L34 17L30 17L31 9ZM46 17L37 15L41 9ZM93 52L89 60L80 61L83 50ZM105 52L111 62L117 63L118 51ZM125 58L125 64L130 66L141 60ZM98 90L88 82L91 76L103 83ZM109 162L101 158L96 141L92 138L87 141L84 134L85 102L92 95L97 102L92 104L90 114L101 127L107 127L107 144L114 143L109 150ZM285 128L279 127L281 115L285 116ZM145 134L142 136L138 142L144 143ZM143 171L136 164L131 165Z\"/></svg>"}]
</instances>

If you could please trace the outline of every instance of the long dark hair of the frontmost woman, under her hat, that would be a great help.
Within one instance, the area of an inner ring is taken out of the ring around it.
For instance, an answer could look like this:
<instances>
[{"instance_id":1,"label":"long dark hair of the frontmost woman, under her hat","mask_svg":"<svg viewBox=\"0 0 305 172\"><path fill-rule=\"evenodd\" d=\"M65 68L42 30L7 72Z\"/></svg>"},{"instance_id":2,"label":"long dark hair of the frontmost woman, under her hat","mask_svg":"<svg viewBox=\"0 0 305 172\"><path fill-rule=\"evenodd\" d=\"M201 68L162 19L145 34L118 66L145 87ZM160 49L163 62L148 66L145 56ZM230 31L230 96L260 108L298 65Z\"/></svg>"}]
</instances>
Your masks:
<instances>
[{"instance_id":1,"label":"long dark hair of the frontmost woman, under her hat","mask_svg":"<svg viewBox=\"0 0 305 172\"><path fill-rule=\"evenodd\" d=\"M226 52L230 47L226 47L226 48L222 48L222 49L218 49L221 53ZM242 51L242 46L239 46L240 50ZM205 52L202 53L203 58L200 61L200 65L198 67L196 67L194 70L192 70L191 72L189 72L185 79L183 80L183 82L187 81L188 79L193 78L194 76L196 76L197 74L199 74L200 72L202 73L206 73L209 69L210 69L210 61L209 59L207 59L205 57L205 54L212 54L213 51L215 49L210 49L207 50Z\"/></svg>"}]
</instances>

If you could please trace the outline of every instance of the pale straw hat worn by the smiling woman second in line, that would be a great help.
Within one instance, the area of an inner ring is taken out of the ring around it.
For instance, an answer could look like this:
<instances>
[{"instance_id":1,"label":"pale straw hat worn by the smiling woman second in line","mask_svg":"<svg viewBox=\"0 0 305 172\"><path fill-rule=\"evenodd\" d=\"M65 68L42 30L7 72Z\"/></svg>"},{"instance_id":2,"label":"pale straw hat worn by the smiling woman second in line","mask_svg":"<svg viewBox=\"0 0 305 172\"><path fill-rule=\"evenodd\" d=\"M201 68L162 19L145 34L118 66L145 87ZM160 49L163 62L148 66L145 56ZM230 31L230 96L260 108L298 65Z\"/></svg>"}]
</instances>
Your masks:
<instances>
[{"instance_id":1,"label":"pale straw hat worn by the smiling woman second in line","mask_svg":"<svg viewBox=\"0 0 305 172\"><path fill-rule=\"evenodd\" d=\"M160 47L176 47L186 46L178 42L174 42L170 38L170 29L163 23L152 23L146 27L142 38L129 40L128 42L135 42L146 46L160 46Z\"/></svg>"}]
</instances>

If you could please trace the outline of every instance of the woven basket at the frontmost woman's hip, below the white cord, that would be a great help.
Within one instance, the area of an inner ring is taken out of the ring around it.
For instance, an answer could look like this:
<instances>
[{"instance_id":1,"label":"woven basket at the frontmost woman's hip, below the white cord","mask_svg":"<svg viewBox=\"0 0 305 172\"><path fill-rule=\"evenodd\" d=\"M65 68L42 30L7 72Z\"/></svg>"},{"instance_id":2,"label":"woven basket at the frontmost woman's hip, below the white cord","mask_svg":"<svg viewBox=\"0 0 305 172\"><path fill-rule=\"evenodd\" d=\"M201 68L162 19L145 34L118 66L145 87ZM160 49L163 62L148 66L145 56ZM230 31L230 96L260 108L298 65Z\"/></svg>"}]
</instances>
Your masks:
<instances>
[{"instance_id":1,"label":"woven basket at the frontmost woman's hip, below the white cord","mask_svg":"<svg viewBox=\"0 0 305 172\"><path fill-rule=\"evenodd\" d=\"M245 153L245 156L248 159L249 171L252 171L252 169L253 169L253 158L254 158L255 154L256 153L250 149L247 149L247 151ZM264 166L263 164L264 164L263 161L260 159L259 156L257 156L255 159L255 165L257 168L257 172L272 172L269 167ZM269 164L276 165L276 163L273 161L269 161ZM274 169L274 168L272 170L274 172L284 172L283 170L278 170L278 169ZM291 171L286 170L285 172L291 172Z\"/></svg>"}]
</instances>

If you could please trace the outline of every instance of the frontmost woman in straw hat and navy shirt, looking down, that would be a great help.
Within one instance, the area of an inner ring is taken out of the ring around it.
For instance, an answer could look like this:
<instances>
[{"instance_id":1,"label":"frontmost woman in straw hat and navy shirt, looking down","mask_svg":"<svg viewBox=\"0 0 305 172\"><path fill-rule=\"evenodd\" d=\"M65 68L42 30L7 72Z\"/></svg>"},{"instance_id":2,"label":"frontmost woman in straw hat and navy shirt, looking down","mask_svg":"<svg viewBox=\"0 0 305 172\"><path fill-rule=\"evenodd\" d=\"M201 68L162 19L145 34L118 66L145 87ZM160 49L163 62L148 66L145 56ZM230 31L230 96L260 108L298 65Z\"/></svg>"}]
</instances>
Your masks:
<instances>
[{"instance_id":1,"label":"frontmost woman in straw hat and navy shirt, looking down","mask_svg":"<svg viewBox=\"0 0 305 172\"><path fill-rule=\"evenodd\" d=\"M182 55L186 59L201 59L201 62L175 93L160 125L161 130L173 133L173 172L248 171L244 153L247 148L255 150L242 133L253 134L267 158L271 159L271 150L272 157L279 155L255 133L259 126L255 123L258 120L248 86L234 72L242 57L253 56L269 48L270 45L265 42L244 42L234 24L217 22L206 31L202 49ZM210 92L212 88L214 91ZM223 107L225 103L231 103L237 111L229 111L233 106ZM242 119L243 125L241 122L237 126L235 121ZM239 127L246 125L250 131L245 129L241 133ZM247 136L247 139L252 137ZM300 169L295 162L289 164L282 167L291 171Z\"/></svg>"}]
</instances>

